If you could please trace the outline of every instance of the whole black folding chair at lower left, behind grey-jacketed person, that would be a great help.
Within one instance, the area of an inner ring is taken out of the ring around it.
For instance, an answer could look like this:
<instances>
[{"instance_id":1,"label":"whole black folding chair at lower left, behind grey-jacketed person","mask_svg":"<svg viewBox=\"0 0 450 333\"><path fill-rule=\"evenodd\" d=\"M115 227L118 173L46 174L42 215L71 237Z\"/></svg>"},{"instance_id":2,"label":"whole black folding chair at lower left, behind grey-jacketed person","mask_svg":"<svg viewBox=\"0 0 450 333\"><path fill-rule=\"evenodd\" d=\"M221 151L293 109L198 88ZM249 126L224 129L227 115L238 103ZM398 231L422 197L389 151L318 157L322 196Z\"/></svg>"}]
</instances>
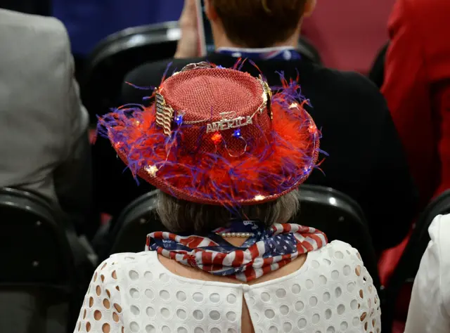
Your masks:
<instances>
[{"instance_id":1,"label":"whole black folding chair at lower left, behind grey-jacketed person","mask_svg":"<svg viewBox=\"0 0 450 333\"><path fill-rule=\"evenodd\" d=\"M0 189L0 226L4 254L0 294L13 291L29 294L42 305L37 313L44 316L46 305L65 304L68 307L67 331L72 332L80 297L85 291L80 290L84 286L78 278L70 247L70 239L77 238L73 228L65 226L43 197L13 188ZM11 308L9 304L1 307ZM2 316L6 316L6 320L8 313ZM36 329L30 332L41 332L37 322L30 322L32 325ZM18 332L13 327L0 327L0 331Z\"/></svg>"}]
</instances>

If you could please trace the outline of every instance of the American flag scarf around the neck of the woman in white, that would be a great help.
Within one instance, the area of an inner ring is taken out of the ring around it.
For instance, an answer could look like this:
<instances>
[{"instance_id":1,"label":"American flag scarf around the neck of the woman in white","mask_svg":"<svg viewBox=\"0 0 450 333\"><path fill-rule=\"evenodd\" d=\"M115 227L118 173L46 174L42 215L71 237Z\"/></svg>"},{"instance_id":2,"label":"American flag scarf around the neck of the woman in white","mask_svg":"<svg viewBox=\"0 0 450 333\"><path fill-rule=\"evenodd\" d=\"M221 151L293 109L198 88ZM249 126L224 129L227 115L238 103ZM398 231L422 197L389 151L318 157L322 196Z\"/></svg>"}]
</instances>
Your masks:
<instances>
[{"instance_id":1,"label":"American flag scarf around the neck of the woman in white","mask_svg":"<svg viewBox=\"0 0 450 333\"><path fill-rule=\"evenodd\" d=\"M221 233L252 233L241 247L226 242ZM298 224L274 224L269 229L255 221L231 223L205 236L156 232L147 235L146 251L156 251L186 266L214 275L249 282L277 270L300 254L327 243L324 233Z\"/></svg>"}]
</instances>

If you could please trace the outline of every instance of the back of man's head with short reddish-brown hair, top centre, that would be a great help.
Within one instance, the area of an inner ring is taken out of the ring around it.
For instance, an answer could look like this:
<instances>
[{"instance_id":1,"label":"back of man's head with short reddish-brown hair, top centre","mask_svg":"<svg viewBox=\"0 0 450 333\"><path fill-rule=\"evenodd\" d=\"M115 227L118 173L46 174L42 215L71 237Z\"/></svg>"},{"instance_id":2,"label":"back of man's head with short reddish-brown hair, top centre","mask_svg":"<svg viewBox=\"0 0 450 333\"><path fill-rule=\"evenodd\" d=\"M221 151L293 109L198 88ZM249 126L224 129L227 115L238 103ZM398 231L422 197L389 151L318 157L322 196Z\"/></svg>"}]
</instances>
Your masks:
<instances>
[{"instance_id":1,"label":"back of man's head with short reddish-brown hair, top centre","mask_svg":"<svg viewBox=\"0 0 450 333\"><path fill-rule=\"evenodd\" d=\"M264 48L289 39L307 0L210 0L234 44Z\"/></svg>"}]
</instances>

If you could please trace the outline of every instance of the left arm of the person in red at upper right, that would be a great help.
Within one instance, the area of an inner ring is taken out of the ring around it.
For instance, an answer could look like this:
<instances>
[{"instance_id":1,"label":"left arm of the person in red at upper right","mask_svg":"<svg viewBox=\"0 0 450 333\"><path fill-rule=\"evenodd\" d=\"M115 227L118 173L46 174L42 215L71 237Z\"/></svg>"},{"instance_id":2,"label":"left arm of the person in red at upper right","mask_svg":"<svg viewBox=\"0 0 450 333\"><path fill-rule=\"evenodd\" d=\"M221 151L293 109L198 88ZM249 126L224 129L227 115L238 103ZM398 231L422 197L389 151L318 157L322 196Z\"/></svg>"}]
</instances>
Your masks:
<instances>
[{"instance_id":1,"label":"left arm of the person in red at upper right","mask_svg":"<svg viewBox=\"0 0 450 333\"><path fill-rule=\"evenodd\" d=\"M415 8L408 0L396 2L389 22L390 45L385 60L385 83L381 89L387 100L411 174L421 199L432 195L429 163L435 152L435 131L425 67L424 41Z\"/></svg>"}]
</instances>

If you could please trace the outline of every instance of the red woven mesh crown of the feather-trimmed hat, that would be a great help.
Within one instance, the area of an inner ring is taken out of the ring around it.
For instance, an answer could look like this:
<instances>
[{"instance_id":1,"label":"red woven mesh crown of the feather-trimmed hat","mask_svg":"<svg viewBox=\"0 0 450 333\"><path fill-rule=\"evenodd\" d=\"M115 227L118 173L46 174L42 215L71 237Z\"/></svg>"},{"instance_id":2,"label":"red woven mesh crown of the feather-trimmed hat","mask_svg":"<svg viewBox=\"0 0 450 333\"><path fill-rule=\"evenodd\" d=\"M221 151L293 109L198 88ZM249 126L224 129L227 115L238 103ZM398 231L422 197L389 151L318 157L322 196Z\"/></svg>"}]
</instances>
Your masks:
<instances>
[{"instance_id":1,"label":"red woven mesh crown of the feather-trimmed hat","mask_svg":"<svg viewBox=\"0 0 450 333\"><path fill-rule=\"evenodd\" d=\"M179 72L165 80L160 93L167 105L177 112L186 112L184 124L191 124L184 131L184 145L188 150L198 148L198 138L203 135L207 124L219 122L221 113L229 113L230 118L253 115L261 107L264 93L262 84L248 73L236 70L203 68ZM259 140L271 129L266 110L258 112L253 124L240 127L243 137ZM232 155L238 155L245 143L233 138L233 130L220 131ZM203 141L205 152L223 152L224 146L212 140ZM226 152L225 152L226 153Z\"/></svg>"}]
</instances>

